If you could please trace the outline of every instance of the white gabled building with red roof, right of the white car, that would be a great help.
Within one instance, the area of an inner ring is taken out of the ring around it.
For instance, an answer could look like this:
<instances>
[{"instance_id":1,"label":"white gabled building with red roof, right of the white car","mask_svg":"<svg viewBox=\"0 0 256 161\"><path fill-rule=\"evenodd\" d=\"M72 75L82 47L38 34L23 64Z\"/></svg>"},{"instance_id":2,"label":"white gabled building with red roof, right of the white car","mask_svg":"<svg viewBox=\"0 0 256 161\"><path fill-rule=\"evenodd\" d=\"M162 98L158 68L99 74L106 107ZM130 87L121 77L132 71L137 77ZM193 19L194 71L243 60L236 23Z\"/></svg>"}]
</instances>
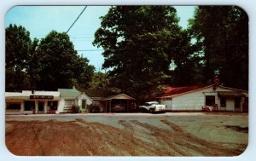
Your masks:
<instances>
[{"instance_id":1,"label":"white gabled building with red roof, right of the white car","mask_svg":"<svg viewBox=\"0 0 256 161\"><path fill-rule=\"evenodd\" d=\"M158 99L168 111L201 111L203 106L212 105L216 111L248 111L247 91L214 84L166 87Z\"/></svg>"}]
</instances>

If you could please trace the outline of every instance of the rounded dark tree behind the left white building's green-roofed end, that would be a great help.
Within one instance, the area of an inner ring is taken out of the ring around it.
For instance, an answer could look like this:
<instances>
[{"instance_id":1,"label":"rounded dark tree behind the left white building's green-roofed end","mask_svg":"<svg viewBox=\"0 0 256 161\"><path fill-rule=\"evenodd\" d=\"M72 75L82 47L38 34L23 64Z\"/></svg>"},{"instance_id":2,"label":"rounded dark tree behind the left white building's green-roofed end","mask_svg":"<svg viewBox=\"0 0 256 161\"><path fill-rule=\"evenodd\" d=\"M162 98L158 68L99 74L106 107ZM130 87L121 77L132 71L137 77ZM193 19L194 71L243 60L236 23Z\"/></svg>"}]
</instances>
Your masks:
<instances>
[{"instance_id":1,"label":"rounded dark tree behind the left white building's green-roofed end","mask_svg":"<svg viewBox=\"0 0 256 161\"><path fill-rule=\"evenodd\" d=\"M67 33L49 32L38 44L36 56L38 89L56 90L73 85L88 87L94 67L77 54Z\"/></svg>"}]
</instances>

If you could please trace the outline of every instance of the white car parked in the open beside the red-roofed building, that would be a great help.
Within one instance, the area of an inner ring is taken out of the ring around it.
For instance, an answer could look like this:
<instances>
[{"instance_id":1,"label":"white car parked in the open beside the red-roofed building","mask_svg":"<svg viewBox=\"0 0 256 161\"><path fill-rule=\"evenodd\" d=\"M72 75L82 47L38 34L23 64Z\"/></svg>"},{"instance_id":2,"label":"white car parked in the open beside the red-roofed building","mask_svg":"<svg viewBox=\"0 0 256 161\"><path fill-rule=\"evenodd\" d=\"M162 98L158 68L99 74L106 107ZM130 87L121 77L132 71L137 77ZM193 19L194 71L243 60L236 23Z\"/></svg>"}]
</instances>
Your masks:
<instances>
[{"instance_id":1,"label":"white car parked in the open beside the red-roofed building","mask_svg":"<svg viewBox=\"0 0 256 161\"><path fill-rule=\"evenodd\" d=\"M158 101L148 101L143 106L139 106L140 111L148 111L150 113L154 112L165 112L166 105L160 105Z\"/></svg>"}]
</instances>

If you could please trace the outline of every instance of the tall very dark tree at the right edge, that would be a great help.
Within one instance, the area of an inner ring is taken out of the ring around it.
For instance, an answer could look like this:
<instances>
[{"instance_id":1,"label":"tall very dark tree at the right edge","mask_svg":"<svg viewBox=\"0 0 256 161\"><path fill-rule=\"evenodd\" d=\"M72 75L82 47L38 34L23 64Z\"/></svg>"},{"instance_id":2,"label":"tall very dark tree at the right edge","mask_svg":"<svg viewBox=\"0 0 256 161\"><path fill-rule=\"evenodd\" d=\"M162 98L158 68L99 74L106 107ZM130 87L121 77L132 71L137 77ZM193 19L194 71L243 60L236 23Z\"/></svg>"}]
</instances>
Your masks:
<instances>
[{"instance_id":1,"label":"tall very dark tree at the right edge","mask_svg":"<svg viewBox=\"0 0 256 161\"><path fill-rule=\"evenodd\" d=\"M203 52L204 82L219 74L221 83L248 89L247 14L236 6L200 6L189 30Z\"/></svg>"}]
</instances>

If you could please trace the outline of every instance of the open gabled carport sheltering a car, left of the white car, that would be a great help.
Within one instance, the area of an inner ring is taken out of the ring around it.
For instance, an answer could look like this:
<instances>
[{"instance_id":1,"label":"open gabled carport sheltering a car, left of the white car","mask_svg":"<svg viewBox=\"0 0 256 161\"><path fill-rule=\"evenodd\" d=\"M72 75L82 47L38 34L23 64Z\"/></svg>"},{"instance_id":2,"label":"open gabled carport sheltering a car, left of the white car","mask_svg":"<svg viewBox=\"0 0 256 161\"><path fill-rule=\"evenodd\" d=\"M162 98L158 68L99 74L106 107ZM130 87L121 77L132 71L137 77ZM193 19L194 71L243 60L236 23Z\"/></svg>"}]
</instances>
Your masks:
<instances>
[{"instance_id":1,"label":"open gabled carport sheltering a car, left of the white car","mask_svg":"<svg viewBox=\"0 0 256 161\"><path fill-rule=\"evenodd\" d=\"M136 107L135 99L125 94L111 95L103 99L103 101L104 112L112 112L113 106L116 105L125 106L125 112L129 112Z\"/></svg>"}]
</instances>

